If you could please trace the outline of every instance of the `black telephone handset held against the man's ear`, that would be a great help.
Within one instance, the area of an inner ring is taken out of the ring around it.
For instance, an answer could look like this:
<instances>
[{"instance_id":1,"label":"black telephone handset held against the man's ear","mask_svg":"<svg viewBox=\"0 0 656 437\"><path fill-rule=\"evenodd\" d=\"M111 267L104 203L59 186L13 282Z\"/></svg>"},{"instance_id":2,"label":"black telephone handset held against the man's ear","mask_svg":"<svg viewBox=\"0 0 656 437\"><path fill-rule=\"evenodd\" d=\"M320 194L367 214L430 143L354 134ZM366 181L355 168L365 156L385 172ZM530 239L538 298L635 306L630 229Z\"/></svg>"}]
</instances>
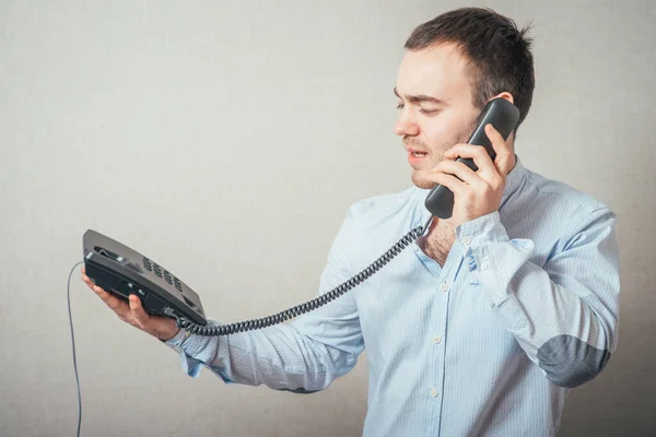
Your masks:
<instances>
[{"instance_id":1,"label":"black telephone handset held against the man's ear","mask_svg":"<svg viewBox=\"0 0 656 437\"><path fill-rule=\"evenodd\" d=\"M485 133L485 126L491 123L501 133L503 139L507 140L518 120L519 109L515 105L503 97L493 98L488 102L481 111L478 125L467 143L485 147L485 151L488 151L488 154L494 161L496 154ZM456 161L464 163L473 172L478 170L473 160L459 157ZM454 193L445 186L437 185L429 192L424 204L434 216L443 220L450 218L454 212Z\"/></svg>"}]
</instances>

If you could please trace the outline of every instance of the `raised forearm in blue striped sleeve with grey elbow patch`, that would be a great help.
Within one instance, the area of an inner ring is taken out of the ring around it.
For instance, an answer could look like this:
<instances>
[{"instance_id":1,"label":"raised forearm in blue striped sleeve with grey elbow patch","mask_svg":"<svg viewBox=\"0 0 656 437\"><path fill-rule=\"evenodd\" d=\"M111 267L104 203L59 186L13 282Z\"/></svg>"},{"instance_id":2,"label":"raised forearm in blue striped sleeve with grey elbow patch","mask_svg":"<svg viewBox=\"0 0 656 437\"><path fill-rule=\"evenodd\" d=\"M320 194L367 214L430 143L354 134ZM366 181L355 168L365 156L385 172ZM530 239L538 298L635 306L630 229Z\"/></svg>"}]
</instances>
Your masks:
<instances>
[{"instance_id":1,"label":"raised forearm in blue striped sleeve with grey elbow patch","mask_svg":"<svg viewBox=\"0 0 656 437\"><path fill-rule=\"evenodd\" d=\"M575 387L601 371L614 324L607 315L528 261L514 273L485 276L481 273L483 293L500 320L553 383ZM506 293L500 298L502 290Z\"/></svg>"}]
</instances>

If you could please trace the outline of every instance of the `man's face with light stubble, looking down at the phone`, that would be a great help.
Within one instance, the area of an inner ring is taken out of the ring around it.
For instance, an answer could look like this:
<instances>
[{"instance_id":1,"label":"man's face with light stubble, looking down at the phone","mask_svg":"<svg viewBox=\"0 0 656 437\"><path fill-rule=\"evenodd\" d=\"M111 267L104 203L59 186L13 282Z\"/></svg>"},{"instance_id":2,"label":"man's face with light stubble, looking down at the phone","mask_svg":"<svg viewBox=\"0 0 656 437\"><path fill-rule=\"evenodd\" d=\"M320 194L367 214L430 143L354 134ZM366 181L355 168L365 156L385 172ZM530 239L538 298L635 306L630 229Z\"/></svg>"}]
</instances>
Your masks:
<instances>
[{"instance_id":1,"label":"man's face with light stubble, looking down at the phone","mask_svg":"<svg viewBox=\"0 0 656 437\"><path fill-rule=\"evenodd\" d=\"M476 128L480 108L472 105L465 62L452 44L407 51L401 61L395 133L403 138L412 182L419 188L435 186L426 175L444 152L466 142Z\"/></svg>"}]
</instances>

